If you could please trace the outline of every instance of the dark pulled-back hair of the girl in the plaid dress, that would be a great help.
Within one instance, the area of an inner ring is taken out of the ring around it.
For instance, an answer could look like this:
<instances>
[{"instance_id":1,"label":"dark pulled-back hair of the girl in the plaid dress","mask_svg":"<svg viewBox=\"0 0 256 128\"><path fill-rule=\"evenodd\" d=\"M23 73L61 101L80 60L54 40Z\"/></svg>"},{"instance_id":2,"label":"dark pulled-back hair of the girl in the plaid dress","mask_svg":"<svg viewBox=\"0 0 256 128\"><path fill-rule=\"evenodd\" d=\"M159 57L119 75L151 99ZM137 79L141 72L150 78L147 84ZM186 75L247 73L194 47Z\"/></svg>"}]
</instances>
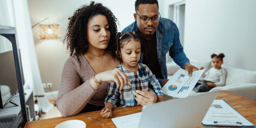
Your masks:
<instances>
[{"instance_id":1,"label":"dark pulled-back hair of the girl in the plaid dress","mask_svg":"<svg viewBox=\"0 0 256 128\"><path fill-rule=\"evenodd\" d=\"M120 37L121 37L121 39L120 39ZM124 32L124 33L118 32L117 40L115 43L115 49L117 51L116 59L118 61L123 62L122 58L120 57L120 53L118 51L120 51L120 49L123 48L123 45L128 44L129 41L131 41L131 40L140 42L141 53L144 55L147 53L146 46L145 46L144 42L142 41L142 37L140 36L140 33L138 31L134 31L134 33L133 32ZM113 50L114 50L114 48L113 48Z\"/></svg>"}]
</instances>

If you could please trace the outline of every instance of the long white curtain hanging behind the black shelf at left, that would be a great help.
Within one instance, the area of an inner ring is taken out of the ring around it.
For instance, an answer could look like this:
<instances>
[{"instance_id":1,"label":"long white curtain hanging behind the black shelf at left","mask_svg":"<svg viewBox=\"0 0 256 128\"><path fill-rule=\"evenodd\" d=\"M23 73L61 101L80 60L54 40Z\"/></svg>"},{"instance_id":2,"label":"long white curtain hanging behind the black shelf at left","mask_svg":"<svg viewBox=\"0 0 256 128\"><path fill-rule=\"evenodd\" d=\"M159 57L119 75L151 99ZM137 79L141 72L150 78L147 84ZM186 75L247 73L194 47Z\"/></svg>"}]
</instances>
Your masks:
<instances>
[{"instance_id":1,"label":"long white curtain hanging behind the black shelf at left","mask_svg":"<svg viewBox=\"0 0 256 128\"><path fill-rule=\"evenodd\" d=\"M1 25L16 27L25 83L33 90L34 95L45 95L38 68L27 0L0 0L0 4L0 16L4 15L6 19ZM6 13L2 14L3 12ZM3 21L2 18L0 21ZM46 97L38 98L38 105L43 112L48 112L54 107Z\"/></svg>"}]
</instances>

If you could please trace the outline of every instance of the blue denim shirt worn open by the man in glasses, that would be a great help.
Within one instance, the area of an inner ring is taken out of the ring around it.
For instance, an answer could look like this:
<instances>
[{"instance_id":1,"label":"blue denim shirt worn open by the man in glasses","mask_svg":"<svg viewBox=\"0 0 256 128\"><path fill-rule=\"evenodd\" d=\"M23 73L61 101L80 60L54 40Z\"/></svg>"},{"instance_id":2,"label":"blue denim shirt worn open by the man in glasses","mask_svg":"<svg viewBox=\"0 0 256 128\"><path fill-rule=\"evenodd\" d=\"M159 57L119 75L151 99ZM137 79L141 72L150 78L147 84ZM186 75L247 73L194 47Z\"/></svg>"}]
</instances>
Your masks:
<instances>
[{"instance_id":1,"label":"blue denim shirt worn open by the man in glasses","mask_svg":"<svg viewBox=\"0 0 256 128\"><path fill-rule=\"evenodd\" d=\"M134 21L122 32L126 31L138 31L137 23ZM164 79L167 79L166 53L168 51L174 62L178 64L182 69L184 68L185 63L189 62L189 59L183 52L183 47L180 43L179 30L173 21L166 18L161 18L159 20L158 28L156 29L156 42L158 62L160 64ZM145 44L147 43L145 42ZM142 63L142 57L143 54L140 55L139 63ZM163 79L158 79L158 81L160 85L162 85Z\"/></svg>"}]
</instances>

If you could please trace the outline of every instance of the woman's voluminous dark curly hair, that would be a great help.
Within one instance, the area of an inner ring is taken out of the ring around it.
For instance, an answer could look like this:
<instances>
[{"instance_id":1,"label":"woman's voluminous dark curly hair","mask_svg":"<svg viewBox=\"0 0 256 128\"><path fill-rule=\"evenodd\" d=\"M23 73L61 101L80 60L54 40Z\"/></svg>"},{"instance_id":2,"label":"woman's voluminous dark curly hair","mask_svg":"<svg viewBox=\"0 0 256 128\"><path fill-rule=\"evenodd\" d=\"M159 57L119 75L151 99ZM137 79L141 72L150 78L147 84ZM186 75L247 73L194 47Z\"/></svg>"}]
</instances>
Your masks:
<instances>
[{"instance_id":1,"label":"woman's voluminous dark curly hair","mask_svg":"<svg viewBox=\"0 0 256 128\"><path fill-rule=\"evenodd\" d=\"M87 40L87 25L92 20L93 17L98 14L106 16L109 23L110 30L110 40L107 47L107 51L111 51L112 58L116 58L115 52L112 52L113 44L116 41L117 26L116 22L118 20L114 14L101 3L96 3L91 1L90 5L83 5L81 8L77 9L73 16L69 17L67 35L64 37L63 43L67 41L67 50L70 49L70 56L76 55L78 60L79 55L85 54L88 51L88 40Z\"/></svg>"}]
</instances>

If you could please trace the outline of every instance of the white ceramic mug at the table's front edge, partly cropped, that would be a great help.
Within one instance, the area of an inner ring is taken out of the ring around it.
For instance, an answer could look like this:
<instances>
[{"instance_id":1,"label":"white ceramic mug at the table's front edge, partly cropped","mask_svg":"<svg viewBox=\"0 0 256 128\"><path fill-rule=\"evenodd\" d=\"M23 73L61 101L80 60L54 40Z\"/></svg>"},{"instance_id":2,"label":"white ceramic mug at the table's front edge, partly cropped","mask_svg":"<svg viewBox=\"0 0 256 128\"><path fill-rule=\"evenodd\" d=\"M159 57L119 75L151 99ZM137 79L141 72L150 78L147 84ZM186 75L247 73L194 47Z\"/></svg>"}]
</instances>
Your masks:
<instances>
[{"instance_id":1,"label":"white ceramic mug at the table's front edge, partly cropped","mask_svg":"<svg viewBox=\"0 0 256 128\"><path fill-rule=\"evenodd\" d=\"M67 120L58 124L55 128L86 128L82 120Z\"/></svg>"}]
</instances>

